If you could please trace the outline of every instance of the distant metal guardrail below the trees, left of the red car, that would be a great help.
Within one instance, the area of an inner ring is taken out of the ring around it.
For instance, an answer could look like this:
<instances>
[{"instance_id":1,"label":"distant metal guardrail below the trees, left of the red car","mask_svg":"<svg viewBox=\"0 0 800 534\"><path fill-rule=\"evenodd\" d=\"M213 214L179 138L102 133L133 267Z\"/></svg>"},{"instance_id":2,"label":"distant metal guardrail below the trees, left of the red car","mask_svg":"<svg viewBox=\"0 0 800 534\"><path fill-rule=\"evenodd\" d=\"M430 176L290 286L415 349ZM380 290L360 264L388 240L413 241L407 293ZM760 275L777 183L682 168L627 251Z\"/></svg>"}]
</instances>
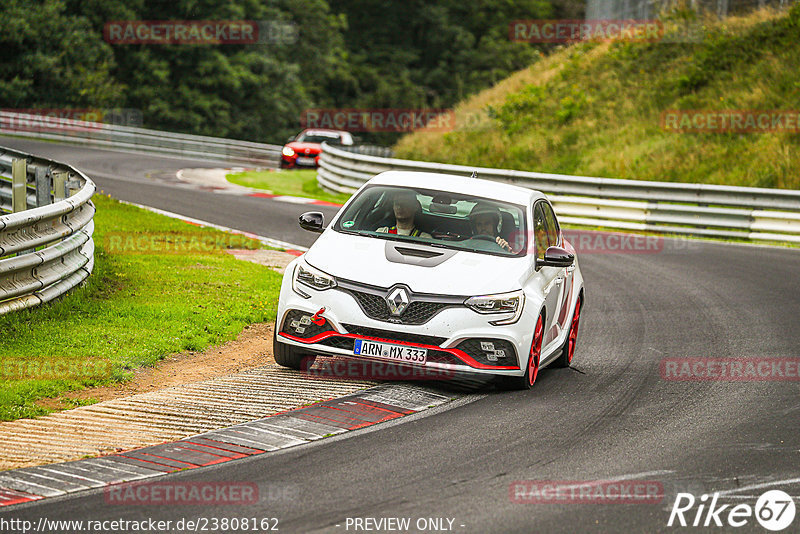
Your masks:
<instances>
[{"instance_id":1,"label":"distant metal guardrail below the trees, left of the red car","mask_svg":"<svg viewBox=\"0 0 800 534\"><path fill-rule=\"evenodd\" d=\"M0 134L268 167L277 167L281 156L278 145L9 111L0 111Z\"/></svg>"}]
</instances>

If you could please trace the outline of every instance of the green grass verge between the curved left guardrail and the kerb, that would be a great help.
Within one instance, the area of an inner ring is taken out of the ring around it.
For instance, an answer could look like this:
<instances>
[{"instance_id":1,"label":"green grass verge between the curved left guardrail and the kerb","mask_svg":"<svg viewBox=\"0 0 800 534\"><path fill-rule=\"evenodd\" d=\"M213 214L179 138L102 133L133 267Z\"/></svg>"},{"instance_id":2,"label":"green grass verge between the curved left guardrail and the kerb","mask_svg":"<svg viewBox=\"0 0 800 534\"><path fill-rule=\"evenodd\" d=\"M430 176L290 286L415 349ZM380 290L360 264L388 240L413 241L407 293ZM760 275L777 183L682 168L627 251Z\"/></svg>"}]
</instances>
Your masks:
<instances>
[{"instance_id":1,"label":"green grass verge between the curved left guardrail and the kerb","mask_svg":"<svg viewBox=\"0 0 800 534\"><path fill-rule=\"evenodd\" d=\"M217 239L222 248L258 248L257 242L101 195L94 202L96 263L87 284L52 304L0 316L0 420L42 415L47 410L37 399L127 380L133 369L225 342L247 324L275 318L281 276L271 269L219 248L132 254L114 239L124 245L128 238L146 238L162 249L202 239ZM110 372L101 365L64 379L41 374L37 379L35 370L22 376L8 372L15 362L56 361L109 362Z\"/></svg>"}]
</instances>

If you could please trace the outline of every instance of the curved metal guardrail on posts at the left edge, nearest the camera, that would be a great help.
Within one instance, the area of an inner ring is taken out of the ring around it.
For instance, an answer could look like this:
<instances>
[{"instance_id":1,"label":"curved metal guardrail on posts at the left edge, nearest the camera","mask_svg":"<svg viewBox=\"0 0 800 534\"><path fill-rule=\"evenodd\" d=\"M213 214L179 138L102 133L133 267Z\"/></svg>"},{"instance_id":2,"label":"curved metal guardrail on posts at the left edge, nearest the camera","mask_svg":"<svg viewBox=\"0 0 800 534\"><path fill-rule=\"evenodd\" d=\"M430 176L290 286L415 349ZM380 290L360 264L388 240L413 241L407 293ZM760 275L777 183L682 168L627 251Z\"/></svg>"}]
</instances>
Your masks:
<instances>
[{"instance_id":1,"label":"curved metal guardrail on posts at the left edge, nearest the camera","mask_svg":"<svg viewBox=\"0 0 800 534\"><path fill-rule=\"evenodd\" d=\"M77 169L0 147L0 315L53 300L91 274L94 192Z\"/></svg>"}]
</instances>

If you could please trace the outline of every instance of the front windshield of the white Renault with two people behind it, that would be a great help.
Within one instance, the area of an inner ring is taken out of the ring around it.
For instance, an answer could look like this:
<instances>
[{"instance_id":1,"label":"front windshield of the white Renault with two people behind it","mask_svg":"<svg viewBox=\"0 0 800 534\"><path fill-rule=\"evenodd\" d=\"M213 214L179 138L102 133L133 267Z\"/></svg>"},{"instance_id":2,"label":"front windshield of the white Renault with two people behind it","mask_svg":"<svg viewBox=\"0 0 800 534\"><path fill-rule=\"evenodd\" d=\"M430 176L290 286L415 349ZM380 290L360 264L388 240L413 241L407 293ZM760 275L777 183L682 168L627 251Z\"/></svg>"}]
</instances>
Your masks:
<instances>
[{"instance_id":1,"label":"front windshield of the white Renault with two people behind it","mask_svg":"<svg viewBox=\"0 0 800 534\"><path fill-rule=\"evenodd\" d=\"M484 254L524 256L525 208L472 195L396 186L364 189L334 230Z\"/></svg>"}]
</instances>

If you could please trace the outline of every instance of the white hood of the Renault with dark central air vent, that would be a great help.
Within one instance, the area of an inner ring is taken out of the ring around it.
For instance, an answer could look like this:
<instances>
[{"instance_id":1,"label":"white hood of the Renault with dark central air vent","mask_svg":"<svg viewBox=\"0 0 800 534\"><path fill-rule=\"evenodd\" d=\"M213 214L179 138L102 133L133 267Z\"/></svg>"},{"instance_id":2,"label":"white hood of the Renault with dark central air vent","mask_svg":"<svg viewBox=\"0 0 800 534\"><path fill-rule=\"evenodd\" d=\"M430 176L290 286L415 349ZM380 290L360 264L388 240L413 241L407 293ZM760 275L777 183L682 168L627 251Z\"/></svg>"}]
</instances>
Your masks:
<instances>
[{"instance_id":1,"label":"white hood of the Renault with dark central air vent","mask_svg":"<svg viewBox=\"0 0 800 534\"><path fill-rule=\"evenodd\" d=\"M442 256L431 259L403 256L396 252L397 246L406 250L413 247L442 253ZM417 293L465 296L519 289L530 267L527 257L421 247L401 241L342 234L332 229L320 235L305 254L305 259L313 267L354 282L386 288L402 283Z\"/></svg>"}]
</instances>

